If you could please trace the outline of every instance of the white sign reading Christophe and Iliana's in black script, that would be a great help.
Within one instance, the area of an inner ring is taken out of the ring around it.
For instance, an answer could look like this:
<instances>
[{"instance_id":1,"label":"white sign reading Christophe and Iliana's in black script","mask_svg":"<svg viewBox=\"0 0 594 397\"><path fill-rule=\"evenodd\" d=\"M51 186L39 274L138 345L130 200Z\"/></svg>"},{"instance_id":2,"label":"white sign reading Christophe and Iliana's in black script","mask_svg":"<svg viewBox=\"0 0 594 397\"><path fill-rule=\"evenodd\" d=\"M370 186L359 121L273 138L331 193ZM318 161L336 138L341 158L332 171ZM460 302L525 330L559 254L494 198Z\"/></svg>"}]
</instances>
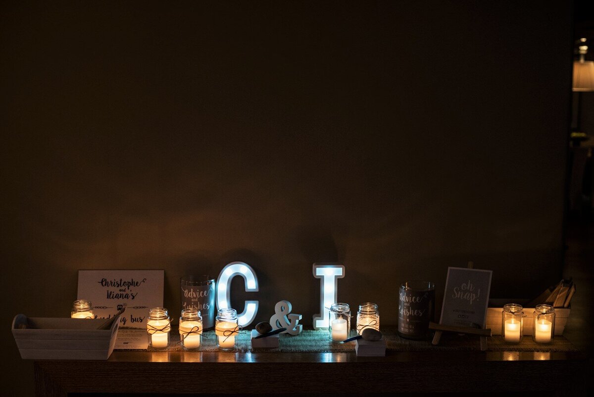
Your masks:
<instances>
[{"instance_id":1,"label":"white sign reading Christophe and Iliana's in black script","mask_svg":"<svg viewBox=\"0 0 594 397\"><path fill-rule=\"evenodd\" d=\"M116 349L146 349L149 309L163 307L163 270L78 270L78 299L91 301L98 319L109 319L124 304ZM123 332L122 332L123 331Z\"/></svg>"}]
</instances>

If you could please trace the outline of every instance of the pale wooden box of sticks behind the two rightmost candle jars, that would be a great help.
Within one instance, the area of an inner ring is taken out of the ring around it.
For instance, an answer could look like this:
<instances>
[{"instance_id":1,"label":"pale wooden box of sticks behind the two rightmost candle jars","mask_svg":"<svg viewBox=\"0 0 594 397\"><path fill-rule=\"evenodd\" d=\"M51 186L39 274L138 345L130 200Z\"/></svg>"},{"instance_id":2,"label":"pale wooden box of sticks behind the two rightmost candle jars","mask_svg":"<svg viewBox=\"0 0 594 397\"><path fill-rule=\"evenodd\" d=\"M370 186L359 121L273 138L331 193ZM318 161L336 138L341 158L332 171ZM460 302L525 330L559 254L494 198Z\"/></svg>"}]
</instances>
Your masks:
<instances>
[{"instance_id":1,"label":"pale wooden box of sticks behind the two rightmost candle jars","mask_svg":"<svg viewBox=\"0 0 594 397\"><path fill-rule=\"evenodd\" d=\"M492 335L501 335L501 312L503 311L503 305L508 303L517 303L522 305L522 300L501 300L501 299L490 299L489 307L486 310L486 325L485 328L491 328ZM569 307L555 307L555 335L563 335L565 325L569 320L569 313L571 308ZM523 335L532 335L534 332L533 320L533 307L525 307L524 314L524 332Z\"/></svg>"}]
</instances>

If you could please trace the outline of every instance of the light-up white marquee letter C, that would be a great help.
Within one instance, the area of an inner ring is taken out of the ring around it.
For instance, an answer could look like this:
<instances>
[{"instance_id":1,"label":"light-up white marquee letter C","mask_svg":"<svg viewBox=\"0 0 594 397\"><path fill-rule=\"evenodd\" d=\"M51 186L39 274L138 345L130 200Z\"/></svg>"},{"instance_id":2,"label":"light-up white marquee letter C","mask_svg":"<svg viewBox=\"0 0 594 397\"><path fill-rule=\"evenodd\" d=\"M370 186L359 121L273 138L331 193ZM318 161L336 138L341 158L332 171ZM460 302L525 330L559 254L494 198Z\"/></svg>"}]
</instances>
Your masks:
<instances>
[{"instance_id":1,"label":"light-up white marquee letter C","mask_svg":"<svg viewBox=\"0 0 594 397\"><path fill-rule=\"evenodd\" d=\"M235 276L242 276L245 281L245 291L258 291L258 278L254 269L244 262L231 262L223 267L217 279L217 308L226 309L231 303L231 279ZM258 301L245 301L244 311L238 314L239 325L245 327L254 321L258 313Z\"/></svg>"}]
</instances>

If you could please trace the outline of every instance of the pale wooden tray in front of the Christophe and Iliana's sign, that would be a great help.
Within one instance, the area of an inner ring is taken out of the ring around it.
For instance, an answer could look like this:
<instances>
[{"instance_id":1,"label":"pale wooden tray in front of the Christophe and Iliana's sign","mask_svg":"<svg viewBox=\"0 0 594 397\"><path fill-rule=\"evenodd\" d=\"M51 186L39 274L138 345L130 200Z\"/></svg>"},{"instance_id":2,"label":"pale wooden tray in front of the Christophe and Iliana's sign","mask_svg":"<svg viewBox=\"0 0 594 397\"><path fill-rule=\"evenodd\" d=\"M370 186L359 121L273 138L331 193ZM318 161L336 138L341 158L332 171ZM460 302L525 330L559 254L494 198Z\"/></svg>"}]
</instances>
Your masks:
<instances>
[{"instance_id":1,"label":"pale wooden tray in front of the Christophe and Iliana's sign","mask_svg":"<svg viewBox=\"0 0 594 397\"><path fill-rule=\"evenodd\" d=\"M119 316L108 329L105 319L56 319L17 314L12 335L21 358L34 360L107 360L118 334Z\"/></svg>"}]
</instances>

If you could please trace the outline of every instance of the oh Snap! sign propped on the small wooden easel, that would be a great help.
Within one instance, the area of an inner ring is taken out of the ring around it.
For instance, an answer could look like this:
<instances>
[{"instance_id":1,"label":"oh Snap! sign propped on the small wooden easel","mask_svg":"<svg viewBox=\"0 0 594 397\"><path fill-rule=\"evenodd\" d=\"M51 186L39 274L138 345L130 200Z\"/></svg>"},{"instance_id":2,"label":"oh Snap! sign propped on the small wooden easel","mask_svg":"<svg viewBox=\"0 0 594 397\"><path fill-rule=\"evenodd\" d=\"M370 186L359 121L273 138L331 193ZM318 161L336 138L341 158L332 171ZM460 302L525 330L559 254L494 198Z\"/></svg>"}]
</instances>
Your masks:
<instances>
[{"instance_id":1,"label":"oh Snap! sign propped on the small wooden easel","mask_svg":"<svg viewBox=\"0 0 594 397\"><path fill-rule=\"evenodd\" d=\"M491 270L448 267L440 323L484 328Z\"/></svg>"}]
</instances>

